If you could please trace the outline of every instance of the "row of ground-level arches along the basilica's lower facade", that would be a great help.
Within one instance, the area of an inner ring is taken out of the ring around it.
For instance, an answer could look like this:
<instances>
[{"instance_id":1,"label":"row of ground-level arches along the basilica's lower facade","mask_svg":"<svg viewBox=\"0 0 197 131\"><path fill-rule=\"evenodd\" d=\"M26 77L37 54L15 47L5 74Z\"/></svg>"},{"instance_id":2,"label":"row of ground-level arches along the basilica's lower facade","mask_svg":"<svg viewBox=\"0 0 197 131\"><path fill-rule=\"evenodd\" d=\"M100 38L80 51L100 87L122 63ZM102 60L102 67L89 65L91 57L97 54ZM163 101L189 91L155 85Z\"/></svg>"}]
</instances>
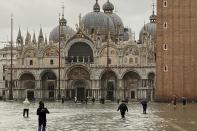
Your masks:
<instances>
[{"instance_id":1,"label":"row of ground-level arches along the basilica's lower facade","mask_svg":"<svg viewBox=\"0 0 197 131\"><path fill-rule=\"evenodd\" d=\"M126 72L122 79L112 70L104 70L99 80L92 80L88 69L82 66L70 68L66 79L61 80L65 85L61 87L61 95L66 99L84 100L86 97L107 100L142 99L152 100L155 74L149 73L147 79L142 79L135 71ZM31 73L20 76L15 94L22 99L55 100L58 96L58 79L53 71L47 70L36 80Z\"/></svg>"}]
</instances>

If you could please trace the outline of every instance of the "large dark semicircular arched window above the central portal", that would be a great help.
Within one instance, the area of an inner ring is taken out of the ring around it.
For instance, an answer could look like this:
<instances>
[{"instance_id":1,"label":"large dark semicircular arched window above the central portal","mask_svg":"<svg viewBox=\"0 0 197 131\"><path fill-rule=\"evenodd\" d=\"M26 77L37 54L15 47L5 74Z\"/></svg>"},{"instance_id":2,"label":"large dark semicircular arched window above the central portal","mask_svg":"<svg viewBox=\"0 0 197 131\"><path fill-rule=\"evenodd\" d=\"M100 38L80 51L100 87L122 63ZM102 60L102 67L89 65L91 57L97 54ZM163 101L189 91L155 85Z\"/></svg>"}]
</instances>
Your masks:
<instances>
[{"instance_id":1,"label":"large dark semicircular arched window above the central portal","mask_svg":"<svg viewBox=\"0 0 197 131\"><path fill-rule=\"evenodd\" d=\"M91 47L84 42L77 42L73 44L68 51L67 62L94 62L93 51Z\"/></svg>"}]
</instances>

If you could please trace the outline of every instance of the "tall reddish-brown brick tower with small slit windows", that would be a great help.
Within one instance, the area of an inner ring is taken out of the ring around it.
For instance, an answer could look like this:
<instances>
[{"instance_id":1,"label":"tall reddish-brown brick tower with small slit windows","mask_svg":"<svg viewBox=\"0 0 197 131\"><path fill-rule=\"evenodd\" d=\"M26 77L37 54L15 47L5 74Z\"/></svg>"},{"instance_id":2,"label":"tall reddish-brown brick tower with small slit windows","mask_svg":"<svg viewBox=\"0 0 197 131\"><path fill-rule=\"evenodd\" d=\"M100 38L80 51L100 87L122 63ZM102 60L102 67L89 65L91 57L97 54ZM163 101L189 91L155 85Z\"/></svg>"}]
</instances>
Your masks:
<instances>
[{"instance_id":1,"label":"tall reddish-brown brick tower with small slit windows","mask_svg":"<svg viewBox=\"0 0 197 131\"><path fill-rule=\"evenodd\" d=\"M157 0L156 100L197 99L196 0Z\"/></svg>"}]
</instances>

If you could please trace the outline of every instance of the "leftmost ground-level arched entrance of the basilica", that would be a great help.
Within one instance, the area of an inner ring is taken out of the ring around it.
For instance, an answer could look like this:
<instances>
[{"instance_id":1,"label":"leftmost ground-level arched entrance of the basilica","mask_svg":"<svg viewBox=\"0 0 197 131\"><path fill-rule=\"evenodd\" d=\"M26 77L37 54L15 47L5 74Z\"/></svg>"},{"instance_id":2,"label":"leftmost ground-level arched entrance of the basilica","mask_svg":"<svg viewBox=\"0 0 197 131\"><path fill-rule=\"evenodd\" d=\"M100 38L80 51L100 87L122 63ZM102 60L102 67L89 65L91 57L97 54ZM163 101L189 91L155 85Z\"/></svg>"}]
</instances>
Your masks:
<instances>
[{"instance_id":1,"label":"leftmost ground-level arched entrance of the basilica","mask_svg":"<svg viewBox=\"0 0 197 131\"><path fill-rule=\"evenodd\" d=\"M21 75L19 83L24 92L19 92L21 98L35 99L35 77L31 73ZM25 94L25 95L24 95Z\"/></svg>"}]
</instances>

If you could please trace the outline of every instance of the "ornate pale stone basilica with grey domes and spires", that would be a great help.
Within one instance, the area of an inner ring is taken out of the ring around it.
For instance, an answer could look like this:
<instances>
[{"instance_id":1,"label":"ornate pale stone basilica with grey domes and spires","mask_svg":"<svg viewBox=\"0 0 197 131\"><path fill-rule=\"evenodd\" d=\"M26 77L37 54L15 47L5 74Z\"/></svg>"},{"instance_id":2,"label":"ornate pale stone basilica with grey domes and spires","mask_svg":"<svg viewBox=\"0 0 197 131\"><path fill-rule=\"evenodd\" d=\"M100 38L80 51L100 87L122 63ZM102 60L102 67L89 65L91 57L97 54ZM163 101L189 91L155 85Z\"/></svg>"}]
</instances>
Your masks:
<instances>
[{"instance_id":1,"label":"ornate pale stone basilica with grey domes and spires","mask_svg":"<svg viewBox=\"0 0 197 131\"><path fill-rule=\"evenodd\" d=\"M121 16L114 13L113 3L107 1L101 7L96 1L93 11L89 8L90 12L79 16L76 30L62 13L49 40L42 28L38 38L28 31L24 38L19 29L12 71L14 99L153 100L155 12L149 23L142 23L139 40L135 40ZM8 86L6 97L9 91Z\"/></svg>"}]
</instances>

